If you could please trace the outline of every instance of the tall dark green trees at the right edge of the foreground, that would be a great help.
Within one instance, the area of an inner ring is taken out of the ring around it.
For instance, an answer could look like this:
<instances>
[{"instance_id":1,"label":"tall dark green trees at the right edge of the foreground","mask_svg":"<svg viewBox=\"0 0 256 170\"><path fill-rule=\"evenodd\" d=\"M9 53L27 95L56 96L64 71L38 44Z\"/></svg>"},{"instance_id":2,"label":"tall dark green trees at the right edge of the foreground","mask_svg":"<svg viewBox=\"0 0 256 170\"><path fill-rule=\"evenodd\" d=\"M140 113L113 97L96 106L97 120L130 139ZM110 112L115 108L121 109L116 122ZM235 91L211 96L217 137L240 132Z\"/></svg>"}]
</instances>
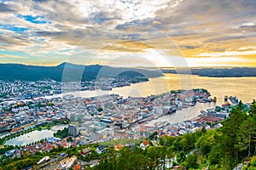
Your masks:
<instances>
[{"instance_id":1,"label":"tall dark green trees at the right edge of the foreground","mask_svg":"<svg viewBox=\"0 0 256 170\"><path fill-rule=\"evenodd\" d=\"M208 154L210 167L232 169L238 163L256 154L255 108L256 105L253 102L247 113L245 106L240 103L232 109L230 117L223 122L223 127L220 128L219 133L214 135L215 141L209 138L209 135L203 137L213 144ZM203 140L201 141L197 143L197 148L203 154L206 143Z\"/></svg>"}]
</instances>

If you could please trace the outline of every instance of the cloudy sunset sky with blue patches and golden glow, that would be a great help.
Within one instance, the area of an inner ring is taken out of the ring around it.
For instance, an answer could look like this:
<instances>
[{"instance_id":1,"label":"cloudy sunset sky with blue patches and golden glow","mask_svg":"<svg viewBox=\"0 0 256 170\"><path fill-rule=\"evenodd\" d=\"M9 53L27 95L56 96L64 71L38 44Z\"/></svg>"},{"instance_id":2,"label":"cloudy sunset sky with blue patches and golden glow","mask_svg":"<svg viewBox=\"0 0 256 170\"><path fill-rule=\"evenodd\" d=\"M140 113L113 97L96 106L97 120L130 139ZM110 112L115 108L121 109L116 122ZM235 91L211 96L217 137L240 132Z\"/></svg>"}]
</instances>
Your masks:
<instances>
[{"instance_id":1,"label":"cloudy sunset sky with blue patches and golden glow","mask_svg":"<svg viewBox=\"0 0 256 170\"><path fill-rule=\"evenodd\" d=\"M0 0L0 63L256 66L255 0Z\"/></svg>"}]
</instances>

